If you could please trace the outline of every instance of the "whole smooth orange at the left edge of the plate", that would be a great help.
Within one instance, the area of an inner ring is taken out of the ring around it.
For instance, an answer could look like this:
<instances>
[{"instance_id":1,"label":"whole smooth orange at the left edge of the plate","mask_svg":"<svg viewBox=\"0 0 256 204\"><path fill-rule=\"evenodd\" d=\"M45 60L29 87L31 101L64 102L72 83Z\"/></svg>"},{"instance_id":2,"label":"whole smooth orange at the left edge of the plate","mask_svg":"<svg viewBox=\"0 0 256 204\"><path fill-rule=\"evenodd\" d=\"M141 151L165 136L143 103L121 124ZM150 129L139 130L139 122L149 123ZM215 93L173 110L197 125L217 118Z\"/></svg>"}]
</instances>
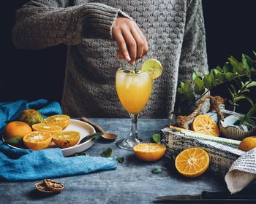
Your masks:
<instances>
[{"instance_id":1,"label":"whole smooth orange at the left edge of the plate","mask_svg":"<svg viewBox=\"0 0 256 204\"><path fill-rule=\"evenodd\" d=\"M31 127L25 122L20 122L20 121L9 122L4 127L4 136L6 136L7 138L12 138L15 136L23 137L23 136L26 136L26 134L31 132L32 132Z\"/></svg>"}]
</instances>

